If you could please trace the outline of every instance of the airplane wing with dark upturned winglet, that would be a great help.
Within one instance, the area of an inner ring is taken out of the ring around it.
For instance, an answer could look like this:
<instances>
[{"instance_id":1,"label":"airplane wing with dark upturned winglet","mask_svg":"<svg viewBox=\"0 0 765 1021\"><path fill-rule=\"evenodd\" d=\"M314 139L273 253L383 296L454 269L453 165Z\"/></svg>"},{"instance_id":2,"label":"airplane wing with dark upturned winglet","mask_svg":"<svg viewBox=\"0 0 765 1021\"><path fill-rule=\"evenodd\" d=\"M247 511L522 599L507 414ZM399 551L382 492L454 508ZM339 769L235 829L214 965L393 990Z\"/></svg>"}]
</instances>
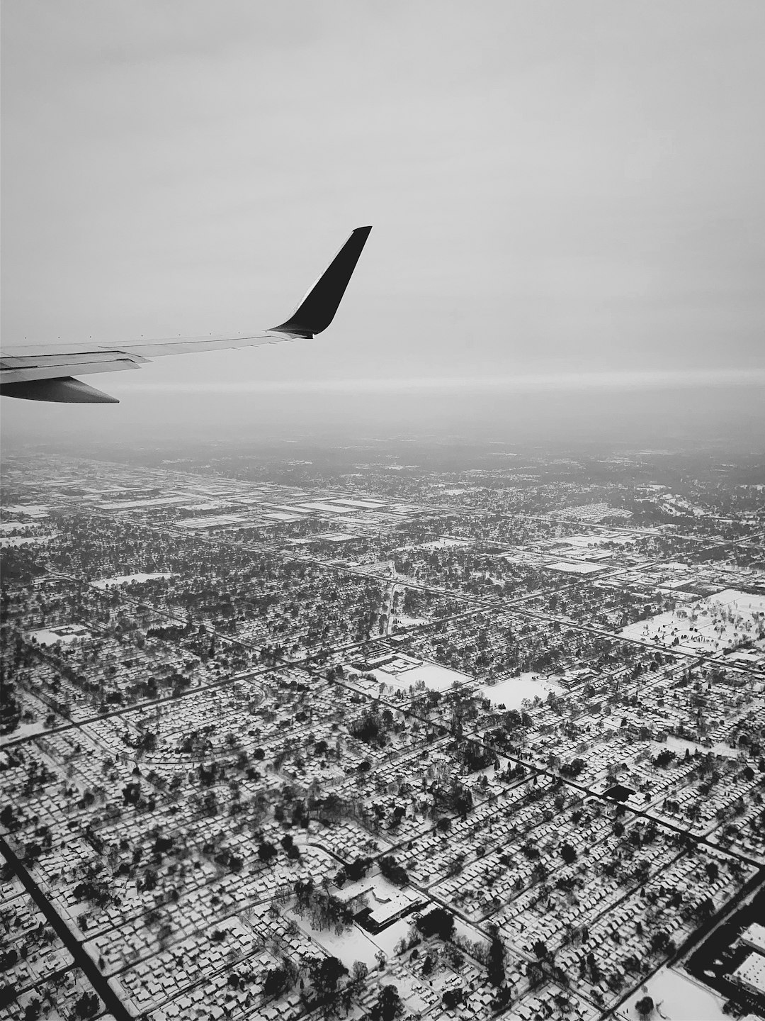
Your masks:
<instances>
[{"instance_id":1,"label":"airplane wing with dark upturned winglet","mask_svg":"<svg viewBox=\"0 0 765 1021\"><path fill-rule=\"evenodd\" d=\"M0 393L24 400L116 404L116 397L96 390L74 376L138 369L152 357L165 354L310 339L325 330L335 318L370 231L371 227L356 228L292 315L279 326L236 337L178 337L131 341L118 346L91 343L73 348L63 345L6 348L0 354Z\"/></svg>"}]
</instances>

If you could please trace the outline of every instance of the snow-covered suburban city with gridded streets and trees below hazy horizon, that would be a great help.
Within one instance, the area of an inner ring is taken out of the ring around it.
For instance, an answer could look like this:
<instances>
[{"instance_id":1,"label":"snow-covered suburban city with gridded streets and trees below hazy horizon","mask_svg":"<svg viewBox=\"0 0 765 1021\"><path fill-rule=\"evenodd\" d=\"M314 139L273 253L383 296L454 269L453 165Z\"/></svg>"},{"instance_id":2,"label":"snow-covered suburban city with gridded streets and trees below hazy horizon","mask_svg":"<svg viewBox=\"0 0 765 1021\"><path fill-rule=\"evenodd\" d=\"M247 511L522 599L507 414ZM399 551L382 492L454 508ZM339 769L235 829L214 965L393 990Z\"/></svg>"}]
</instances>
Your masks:
<instances>
[{"instance_id":1,"label":"snow-covered suburban city with gridded streets and trees below hazy horizon","mask_svg":"<svg viewBox=\"0 0 765 1021\"><path fill-rule=\"evenodd\" d=\"M6 458L9 1018L762 1010L762 466L496 452Z\"/></svg>"}]
</instances>

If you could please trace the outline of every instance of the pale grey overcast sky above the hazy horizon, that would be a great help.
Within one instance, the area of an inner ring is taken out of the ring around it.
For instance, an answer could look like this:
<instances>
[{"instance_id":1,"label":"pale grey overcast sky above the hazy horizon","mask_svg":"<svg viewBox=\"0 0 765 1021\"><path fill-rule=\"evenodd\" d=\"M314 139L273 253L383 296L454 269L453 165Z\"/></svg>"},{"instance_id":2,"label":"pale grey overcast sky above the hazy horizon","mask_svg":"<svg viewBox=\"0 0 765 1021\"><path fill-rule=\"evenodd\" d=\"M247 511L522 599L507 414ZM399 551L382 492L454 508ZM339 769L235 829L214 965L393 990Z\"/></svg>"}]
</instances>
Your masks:
<instances>
[{"instance_id":1,"label":"pale grey overcast sky above the hazy horizon","mask_svg":"<svg viewBox=\"0 0 765 1021\"><path fill-rule=\"evenodd\" d=\"M6 425L181 422L208 385L236 418L259 389L765 377L762 0L2 15L5 344L267 327L373 225L315 341L90 377L122 403L4 400Z\"/></svg>"}]
</instances>

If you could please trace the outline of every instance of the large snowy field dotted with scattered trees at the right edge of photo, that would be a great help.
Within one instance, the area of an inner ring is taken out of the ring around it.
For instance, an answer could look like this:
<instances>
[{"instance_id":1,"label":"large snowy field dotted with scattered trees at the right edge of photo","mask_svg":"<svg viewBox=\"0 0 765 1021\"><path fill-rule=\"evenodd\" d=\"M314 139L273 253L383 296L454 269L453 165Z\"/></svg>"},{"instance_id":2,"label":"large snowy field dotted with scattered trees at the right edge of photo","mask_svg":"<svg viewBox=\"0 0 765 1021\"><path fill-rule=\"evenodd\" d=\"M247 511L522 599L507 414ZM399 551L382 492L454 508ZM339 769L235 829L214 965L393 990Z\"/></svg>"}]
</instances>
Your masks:
<instances>
[{"instance_id":1,"label":"large snowy field dotted with scattered trees at the right edge of photo","mask_svg":"<svg viewBox=\"0 0 765 1021\"><path fill-rule=\"evenodd\" d=\"M619 634L680 651L718 652L741 644L746 638L757 639L757 622L764 620L764 595L727 588L693 605L628 624Z\"/></svg>"}]
</instances>

